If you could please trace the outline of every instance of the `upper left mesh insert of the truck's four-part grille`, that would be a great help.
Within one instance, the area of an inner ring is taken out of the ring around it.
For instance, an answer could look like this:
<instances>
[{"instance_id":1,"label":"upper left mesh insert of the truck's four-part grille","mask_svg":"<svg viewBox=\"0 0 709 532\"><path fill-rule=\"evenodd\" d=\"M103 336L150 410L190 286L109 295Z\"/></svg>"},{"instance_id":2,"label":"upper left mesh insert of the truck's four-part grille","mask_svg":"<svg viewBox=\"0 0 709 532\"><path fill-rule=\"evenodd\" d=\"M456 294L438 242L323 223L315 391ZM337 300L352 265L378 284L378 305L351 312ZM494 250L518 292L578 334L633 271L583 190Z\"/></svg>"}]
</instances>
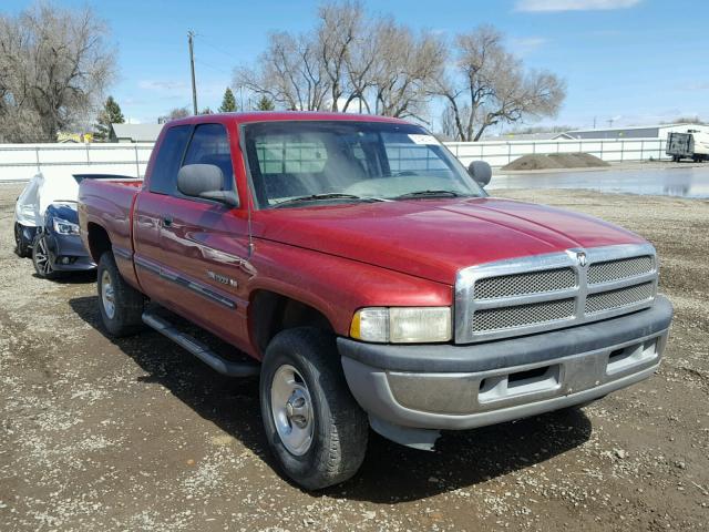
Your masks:
<instances>
[{"instance_id":1,"label":"upper left mesh insert of the truck's four-part grille","mask_svg":"<svg viewBox=\"0 0 709 532\"><path fill-rule=\"evenodd\" d=\"M475 299L517 296L563 290L576 286L576 274L572 268L557 268L530 274L501 275L475 282Z\"/></svg>"}]
</instances>

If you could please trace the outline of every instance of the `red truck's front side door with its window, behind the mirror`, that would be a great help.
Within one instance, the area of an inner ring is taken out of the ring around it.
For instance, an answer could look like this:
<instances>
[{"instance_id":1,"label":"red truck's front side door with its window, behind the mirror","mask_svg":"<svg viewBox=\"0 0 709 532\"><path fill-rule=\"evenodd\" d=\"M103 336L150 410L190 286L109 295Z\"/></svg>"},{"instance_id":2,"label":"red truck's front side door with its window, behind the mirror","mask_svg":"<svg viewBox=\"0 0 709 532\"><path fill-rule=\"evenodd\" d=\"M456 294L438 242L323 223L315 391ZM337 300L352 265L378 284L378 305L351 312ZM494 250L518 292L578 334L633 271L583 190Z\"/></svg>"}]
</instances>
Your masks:
<instances>
[{"instance_id":1,"label":"red truck's front side door with its window, behind the mirror","mask_svg":"<svg viewBox=\"0 0 709 532\"><path fill-rule=\"evenodd\" d=\"M229 143L223 124L199 124L193 131L182 166L216 165L225 177L224 190L235 191L232 145L236 142ZM162 276L173 284L166 304L246 348L246 283L251 276L246 208L186 196L174 186L162 209Z\"/></svg>"}]
</instances>

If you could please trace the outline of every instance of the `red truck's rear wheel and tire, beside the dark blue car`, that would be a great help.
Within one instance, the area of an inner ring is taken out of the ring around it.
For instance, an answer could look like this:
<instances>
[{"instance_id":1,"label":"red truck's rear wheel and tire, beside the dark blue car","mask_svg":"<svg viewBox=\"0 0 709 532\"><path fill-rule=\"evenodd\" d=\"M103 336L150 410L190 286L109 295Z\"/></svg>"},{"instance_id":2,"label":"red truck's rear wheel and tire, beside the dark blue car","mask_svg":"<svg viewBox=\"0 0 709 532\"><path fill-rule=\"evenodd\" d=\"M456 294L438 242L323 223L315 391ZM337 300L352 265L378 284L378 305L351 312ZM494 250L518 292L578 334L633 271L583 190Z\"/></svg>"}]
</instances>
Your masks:
<instances>
[{"instance_id":1,"label":"red truck's rear wheel and tire, beside the dark blue car","mask_svg":"<svg viewBox=\"0 0 709 532\"><path fill-rule=\"evenodd\" d=\"M140 332L145 297L123 279L111 252L101 255L96 285L101 318L111 336Z\"/></svg>"}]
</instances>

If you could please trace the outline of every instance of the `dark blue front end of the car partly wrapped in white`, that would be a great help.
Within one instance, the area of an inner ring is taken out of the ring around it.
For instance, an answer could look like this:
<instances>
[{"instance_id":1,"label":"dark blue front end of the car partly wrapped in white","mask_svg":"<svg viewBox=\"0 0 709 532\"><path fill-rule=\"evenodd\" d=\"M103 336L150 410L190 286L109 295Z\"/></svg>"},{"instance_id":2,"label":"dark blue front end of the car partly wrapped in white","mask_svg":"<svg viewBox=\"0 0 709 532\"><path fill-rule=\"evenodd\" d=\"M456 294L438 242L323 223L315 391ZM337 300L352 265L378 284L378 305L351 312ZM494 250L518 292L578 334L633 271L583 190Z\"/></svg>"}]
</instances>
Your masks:
<instances>
[{"instance_id":1,"label":"dark blue front end of the car partly wrapped in white","mask_svg":"<svg viewBox=\"0 0 709 532\"><path fill-rule=\"evenodd\" d=\"M47 279L64 272L86 272L96 265L79 236L75 202L58 202L47 207L44 224L32 243L32 263L37 275Z\"/></svg>"}]
</instances>

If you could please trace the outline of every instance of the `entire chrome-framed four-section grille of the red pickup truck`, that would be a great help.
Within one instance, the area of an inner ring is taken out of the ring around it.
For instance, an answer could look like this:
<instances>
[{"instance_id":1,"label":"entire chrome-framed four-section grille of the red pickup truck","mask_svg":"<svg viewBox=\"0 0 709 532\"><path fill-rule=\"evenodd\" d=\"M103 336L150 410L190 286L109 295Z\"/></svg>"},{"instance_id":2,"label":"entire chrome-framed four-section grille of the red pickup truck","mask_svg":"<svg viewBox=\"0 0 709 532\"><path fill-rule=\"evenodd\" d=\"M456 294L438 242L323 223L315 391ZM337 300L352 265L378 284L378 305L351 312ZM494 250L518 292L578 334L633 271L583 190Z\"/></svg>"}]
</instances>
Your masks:
<instances>
[{"instance_id":1,"label":"entire chrome-framed four-section grille of the red pickup truck","mask_svg":"<svg viewBox=\"0 0 709 532\"><path fill-rule=\"evenodd\" d=\"M649 307L651 245L620 245L473 266L455 282L455 341L466 344L579 325Z\"/></svg>"}]
</instances>

